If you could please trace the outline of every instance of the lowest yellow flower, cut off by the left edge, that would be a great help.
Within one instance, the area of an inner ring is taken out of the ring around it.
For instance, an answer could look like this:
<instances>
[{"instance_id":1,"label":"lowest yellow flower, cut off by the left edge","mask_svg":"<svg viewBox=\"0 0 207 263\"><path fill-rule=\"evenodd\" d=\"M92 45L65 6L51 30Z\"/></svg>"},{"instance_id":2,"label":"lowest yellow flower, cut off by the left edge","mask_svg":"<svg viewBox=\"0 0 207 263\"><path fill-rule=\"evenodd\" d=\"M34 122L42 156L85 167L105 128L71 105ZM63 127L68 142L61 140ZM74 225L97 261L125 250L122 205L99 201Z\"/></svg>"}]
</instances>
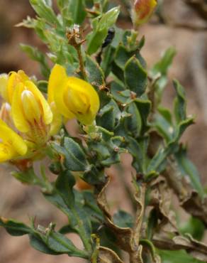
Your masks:
<instances>
[{"instance_id":1,"label":"lowest yellow flower, cut off by the left edge","mask_svg":"<svg viewBox=\"0 0 207 263\"><path fill-rule=\"evenodd\" d=\"M0 162L17 159L26 152L25 141L0 119Z\"/></svg>"}]
</instances>

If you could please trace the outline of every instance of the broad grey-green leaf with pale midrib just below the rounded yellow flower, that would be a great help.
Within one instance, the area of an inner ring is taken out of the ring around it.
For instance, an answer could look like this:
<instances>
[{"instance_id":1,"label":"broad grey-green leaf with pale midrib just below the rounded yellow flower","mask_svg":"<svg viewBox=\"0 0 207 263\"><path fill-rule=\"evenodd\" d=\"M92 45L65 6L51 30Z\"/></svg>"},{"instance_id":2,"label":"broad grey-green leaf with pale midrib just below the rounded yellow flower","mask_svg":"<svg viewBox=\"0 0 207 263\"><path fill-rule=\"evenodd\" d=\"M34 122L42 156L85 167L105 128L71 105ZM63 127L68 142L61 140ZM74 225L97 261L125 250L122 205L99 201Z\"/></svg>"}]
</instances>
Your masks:
<instances>
[{"instance_id":1,"label":"broad grey-green leaf with pale midrib just below the rounded yellow flower","mask_svg":"<svg viewBox=\"0 0 207 263\"><path fill-rule=\"evenodd\" d=\"M72 138L65 137L64 139L65 151L65 166L70 171L85 171L88 163L82 148Z\"/></svg>"}]
</instances>

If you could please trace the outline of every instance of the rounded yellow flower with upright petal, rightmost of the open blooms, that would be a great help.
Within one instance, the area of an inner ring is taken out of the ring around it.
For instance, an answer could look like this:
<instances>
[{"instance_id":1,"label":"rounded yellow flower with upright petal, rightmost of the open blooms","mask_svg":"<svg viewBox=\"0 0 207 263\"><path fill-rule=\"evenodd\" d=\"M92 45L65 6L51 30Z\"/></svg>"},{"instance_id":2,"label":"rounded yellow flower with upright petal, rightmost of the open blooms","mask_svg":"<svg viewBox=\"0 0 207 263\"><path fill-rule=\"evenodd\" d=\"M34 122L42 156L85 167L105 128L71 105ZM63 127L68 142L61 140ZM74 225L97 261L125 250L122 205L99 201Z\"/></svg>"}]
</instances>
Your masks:
<instances>
[{"instance_id":1,"label":"rounded yellow flower with upright petal, rightmost of the open blooms","mask_svg":"<svg viewBox=\"0 0 207 263\"><path fill-rule=\"evenodd\" d=\"M64 117L77 118L82 124L91 124L99 110L99 95L94 87L77 77L68 77L65 68L57 64L50 74L48 100L55 101Z\"/></svg>"}]
</instances>

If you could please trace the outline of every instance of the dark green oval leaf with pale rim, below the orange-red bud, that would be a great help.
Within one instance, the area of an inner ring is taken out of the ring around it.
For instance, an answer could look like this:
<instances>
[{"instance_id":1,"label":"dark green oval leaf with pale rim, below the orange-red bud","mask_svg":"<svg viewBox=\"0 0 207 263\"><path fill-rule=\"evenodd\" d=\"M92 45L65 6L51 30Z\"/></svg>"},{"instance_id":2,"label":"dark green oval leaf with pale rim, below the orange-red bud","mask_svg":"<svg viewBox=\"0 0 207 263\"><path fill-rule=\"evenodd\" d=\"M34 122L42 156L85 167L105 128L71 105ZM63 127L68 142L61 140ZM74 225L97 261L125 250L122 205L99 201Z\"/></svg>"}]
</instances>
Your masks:
<instances>
[{"instance_id":1,"label":"dark green oval leaf with pale rim, below the orange-red bud","mask_svg":"<svg viewBox=\"0 0 207 263\"><path fill-rule=\"evenodd\" d=\"M135 56L125 64L124 76L127 87L140 97L147 87L147 72Z\"/></svg>"}]
</instances>

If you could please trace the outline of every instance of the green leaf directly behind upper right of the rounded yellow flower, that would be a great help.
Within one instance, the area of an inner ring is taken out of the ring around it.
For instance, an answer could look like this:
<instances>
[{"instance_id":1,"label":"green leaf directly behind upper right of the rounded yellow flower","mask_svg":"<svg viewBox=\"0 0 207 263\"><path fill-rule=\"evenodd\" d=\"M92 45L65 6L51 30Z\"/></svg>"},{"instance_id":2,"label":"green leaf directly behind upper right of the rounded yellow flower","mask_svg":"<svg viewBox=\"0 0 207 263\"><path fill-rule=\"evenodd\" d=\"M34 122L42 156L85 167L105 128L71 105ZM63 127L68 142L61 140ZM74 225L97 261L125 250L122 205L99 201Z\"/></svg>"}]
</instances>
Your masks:
<instances>
[{"instance_id":1,"label":"green leaf directly behind upper right of the rounded yellow flower","mask_svg":"<svg viewBox=\"0 0 207 263\"><path fill-rule=\"evenodd\" d=\"M86 55L86 73L89 82L93 85L104 85L104 73L99 64L89 55Z\"/></svg>"}]
</instances>

